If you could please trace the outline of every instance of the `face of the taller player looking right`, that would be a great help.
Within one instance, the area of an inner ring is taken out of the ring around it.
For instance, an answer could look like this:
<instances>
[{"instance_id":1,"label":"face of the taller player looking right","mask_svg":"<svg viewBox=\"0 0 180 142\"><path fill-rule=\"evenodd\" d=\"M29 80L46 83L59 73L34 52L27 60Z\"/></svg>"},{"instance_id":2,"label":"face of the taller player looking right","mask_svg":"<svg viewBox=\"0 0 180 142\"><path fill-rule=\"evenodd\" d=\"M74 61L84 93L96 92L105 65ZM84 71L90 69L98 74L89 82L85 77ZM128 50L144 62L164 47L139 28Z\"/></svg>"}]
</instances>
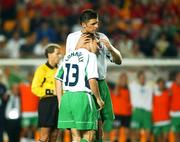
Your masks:
<instances>
[{"instance_id":1,"label":"face of the taller player looking right","mask_svg":"<svg viewBox=\"0 0 180 142\"><path fill-rule=\"evenodd\" d=\"M84 31L87 33L95 33L99 28L99 20L97 19L90 19L87 22L82 23Z\"/></svg>"}]
</instances>

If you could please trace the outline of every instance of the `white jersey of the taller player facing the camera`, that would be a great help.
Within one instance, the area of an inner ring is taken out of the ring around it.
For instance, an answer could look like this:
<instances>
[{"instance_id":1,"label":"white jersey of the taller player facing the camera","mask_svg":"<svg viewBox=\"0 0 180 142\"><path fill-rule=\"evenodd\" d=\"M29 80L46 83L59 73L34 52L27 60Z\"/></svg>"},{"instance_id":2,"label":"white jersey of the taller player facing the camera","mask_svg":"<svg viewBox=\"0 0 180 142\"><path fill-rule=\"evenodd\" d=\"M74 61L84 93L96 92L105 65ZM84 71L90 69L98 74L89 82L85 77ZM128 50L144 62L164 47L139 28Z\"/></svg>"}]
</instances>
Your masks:
<instances>
[{"instance_id":1,"label":"white jersey of the taller player facing the camera","mask_svg":"<svg viewBox=\"0 0 180 142\"><path fill-rule=\"evenodd\" d=\"M99 38L109 40L107 36L104 35L103 33L98 32L96 34L99 36ZM82 35L81 31L70 33L68 35L67 40L66 40L66 54L75 50L76 45L81 35ZM106 71L107 71L106 59L109 59L110 61L112 61L112 55L103 44L100 44L99 53L100 54L98 54L97 56L98 74L99 74L99 79L103 80L106 78Z\"/></svg>"}]
</instances>

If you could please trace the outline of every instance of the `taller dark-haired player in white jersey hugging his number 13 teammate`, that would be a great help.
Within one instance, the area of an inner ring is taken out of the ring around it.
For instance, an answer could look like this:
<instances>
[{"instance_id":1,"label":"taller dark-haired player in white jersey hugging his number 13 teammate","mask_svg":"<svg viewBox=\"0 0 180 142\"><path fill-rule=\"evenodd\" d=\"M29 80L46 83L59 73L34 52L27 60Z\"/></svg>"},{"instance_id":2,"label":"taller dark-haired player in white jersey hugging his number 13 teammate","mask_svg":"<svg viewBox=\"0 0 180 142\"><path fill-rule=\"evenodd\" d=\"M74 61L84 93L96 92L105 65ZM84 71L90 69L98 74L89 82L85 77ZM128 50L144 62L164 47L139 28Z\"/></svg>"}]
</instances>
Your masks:
<instances>
[{"instance_id":1,"label":"taller dark-haired player in white jersey hugging his number 13 teammate","mask_svg":"<svg viewBox=\"0 0 180 142\"><path fill-rule=\"evenodd\" d=\"M99 125L104 122L104 131L108 132L112 128L112 122L114 119L112 102L110 98L109 89L105 82L106 71L107 71L107 60L116 64L121 64L122 57L120 52L110 43L109 39L103 33L97 32L99 27L98 14L92 10L88 9L81 13L80 24L82 26L81 31L70 33L66 41L66 54L74 51L77 47L88 46L89 34L93 34L99 41L99 53L97 55L98 64L98 85L100 90L100 95L105 102L104 108L101 110L101 120ZM97 141L102 141L102 126L99 126Z\"/></svg>"}]
</instances>

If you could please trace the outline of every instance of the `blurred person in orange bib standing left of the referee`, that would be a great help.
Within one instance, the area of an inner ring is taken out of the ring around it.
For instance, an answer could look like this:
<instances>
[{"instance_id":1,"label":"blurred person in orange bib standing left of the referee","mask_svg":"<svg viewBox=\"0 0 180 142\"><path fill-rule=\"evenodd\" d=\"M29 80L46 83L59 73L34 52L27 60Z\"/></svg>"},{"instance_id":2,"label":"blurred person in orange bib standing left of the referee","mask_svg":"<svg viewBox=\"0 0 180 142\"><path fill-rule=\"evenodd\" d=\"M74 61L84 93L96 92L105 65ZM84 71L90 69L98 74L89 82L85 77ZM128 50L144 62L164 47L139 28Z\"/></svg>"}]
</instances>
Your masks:
<instances>
[{"instance_id":1,"label":"blurred person in orange bib standing left of the referee","mask_svg":"<svg viewBox=\"0 0 180 142\"><path fill-rule=\"evenodd\" d=\"M22 140L30 140L34 138L37 130L38 121L38 102L39 98L31 91L31 81L33 74L31 72L27 75L27 81L19 85L21 97L21 111L22 111Z\"/></svg>"}]
</instances>

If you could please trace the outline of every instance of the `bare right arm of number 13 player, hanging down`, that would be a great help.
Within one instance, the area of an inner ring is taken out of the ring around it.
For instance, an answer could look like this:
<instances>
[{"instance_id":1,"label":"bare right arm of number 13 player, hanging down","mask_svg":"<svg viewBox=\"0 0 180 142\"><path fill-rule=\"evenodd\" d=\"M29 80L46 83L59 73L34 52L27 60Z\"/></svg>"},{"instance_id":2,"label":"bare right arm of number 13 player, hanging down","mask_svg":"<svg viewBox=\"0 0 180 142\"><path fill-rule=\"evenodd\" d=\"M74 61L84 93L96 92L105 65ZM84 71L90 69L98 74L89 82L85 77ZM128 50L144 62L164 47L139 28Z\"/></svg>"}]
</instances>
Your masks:
<instances>
[{"instance_id":1,"label":"bare right arm of number 13 player, hanging down","mask_svg":"<svg viewBox=\"0 0 180 142\"><path fill-rule=\"evenodd\" d=\"M97 80L93 78L90 79L89 85L99 105L99 110L101 110L104 107L104 101L101 99Z\"/></svg>"}]
</instances>

